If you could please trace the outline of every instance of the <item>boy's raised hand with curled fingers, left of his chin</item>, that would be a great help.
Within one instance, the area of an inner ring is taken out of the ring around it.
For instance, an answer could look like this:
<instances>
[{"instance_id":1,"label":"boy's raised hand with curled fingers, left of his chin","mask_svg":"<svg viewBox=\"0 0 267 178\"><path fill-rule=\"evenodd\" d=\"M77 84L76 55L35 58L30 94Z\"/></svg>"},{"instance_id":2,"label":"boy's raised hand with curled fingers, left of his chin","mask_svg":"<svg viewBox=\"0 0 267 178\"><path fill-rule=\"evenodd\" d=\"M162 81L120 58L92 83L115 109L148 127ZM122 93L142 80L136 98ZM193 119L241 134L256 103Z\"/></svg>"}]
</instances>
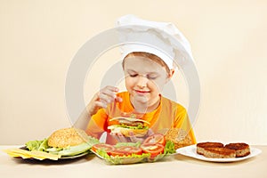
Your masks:
<instances>
[{"instance_id":1,"label":"boy's raised hand with curled fingers, left of his chin","mask_svg":"<svg viewBox=\"0 0 267 178\"><path fill-rule=\"evenodd\" d=\"M115 86L106 86L101 89L100 92L95 93L93 99L87 106L87 110L90 116L93 116L98 109L107 108L108 104L114 101L121 102L122 98L118 97L116 93L118 88Z\"/></svg>"}]
</instances>

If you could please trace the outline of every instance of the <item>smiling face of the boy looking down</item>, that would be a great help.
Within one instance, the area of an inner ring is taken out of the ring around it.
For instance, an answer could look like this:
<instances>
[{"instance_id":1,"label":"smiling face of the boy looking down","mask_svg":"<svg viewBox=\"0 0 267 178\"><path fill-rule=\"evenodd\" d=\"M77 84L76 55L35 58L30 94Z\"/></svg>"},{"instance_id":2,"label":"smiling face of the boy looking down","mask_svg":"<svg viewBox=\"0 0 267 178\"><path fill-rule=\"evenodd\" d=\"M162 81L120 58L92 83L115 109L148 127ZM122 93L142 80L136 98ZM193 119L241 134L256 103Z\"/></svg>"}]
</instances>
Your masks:
<instances>
[{"instance_id":1,"label":"smiling face of the boy looking down","mask_svg":"<svg viewBox=\"0 0 267 178\"><path fill-rule=\"evenodd\" d=\"M142 56L127 57L124 70L125 86L131 101L146 104L148 108L158 102L159 93L171 77L165 67Z\"/></svg>"}]
</instances>

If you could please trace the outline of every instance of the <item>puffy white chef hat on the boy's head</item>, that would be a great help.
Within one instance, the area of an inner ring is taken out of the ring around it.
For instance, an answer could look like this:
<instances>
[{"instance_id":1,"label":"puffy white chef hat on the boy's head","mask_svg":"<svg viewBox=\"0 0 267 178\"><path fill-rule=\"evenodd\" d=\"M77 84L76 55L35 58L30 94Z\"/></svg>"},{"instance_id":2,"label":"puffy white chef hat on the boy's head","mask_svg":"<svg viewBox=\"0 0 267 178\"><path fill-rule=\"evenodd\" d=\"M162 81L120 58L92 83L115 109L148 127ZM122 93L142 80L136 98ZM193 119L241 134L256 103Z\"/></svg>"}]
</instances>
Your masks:
<instances>
[{"instance_id":1,"label":"puffy white chef hat on the boy's head","mask_svg":"<svg viewBox=\"0 0 267 178\"><path fill-rule=\"evenodd\" d=\"M116 25L123 58L133 52L153 53L169 69L181 66L188 58L193 60L189 41L173 23L142 20L129 14L120 17Z\"/></svg>"}]
</instances>

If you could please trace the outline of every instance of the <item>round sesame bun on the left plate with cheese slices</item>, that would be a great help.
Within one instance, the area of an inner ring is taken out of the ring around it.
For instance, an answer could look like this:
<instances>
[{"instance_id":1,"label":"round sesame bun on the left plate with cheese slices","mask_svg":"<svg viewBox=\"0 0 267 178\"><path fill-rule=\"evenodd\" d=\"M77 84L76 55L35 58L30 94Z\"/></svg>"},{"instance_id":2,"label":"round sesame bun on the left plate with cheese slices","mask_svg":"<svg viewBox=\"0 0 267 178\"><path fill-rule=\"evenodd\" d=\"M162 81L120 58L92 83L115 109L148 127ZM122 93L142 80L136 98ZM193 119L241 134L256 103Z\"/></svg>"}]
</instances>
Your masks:
<instances>
[{"instance_id":1,"label":"round sesame bun on the left plate with cheese slices","mask_svg":"<svg viewBox=\"0 0 267 178\"><path fill-rule=\"evenodd\" d=\"M62 128L50 135L48 145L50 147L66 148L86 142L88 138L84 130L74 127Z\"/></svg>"}]
</instances>

